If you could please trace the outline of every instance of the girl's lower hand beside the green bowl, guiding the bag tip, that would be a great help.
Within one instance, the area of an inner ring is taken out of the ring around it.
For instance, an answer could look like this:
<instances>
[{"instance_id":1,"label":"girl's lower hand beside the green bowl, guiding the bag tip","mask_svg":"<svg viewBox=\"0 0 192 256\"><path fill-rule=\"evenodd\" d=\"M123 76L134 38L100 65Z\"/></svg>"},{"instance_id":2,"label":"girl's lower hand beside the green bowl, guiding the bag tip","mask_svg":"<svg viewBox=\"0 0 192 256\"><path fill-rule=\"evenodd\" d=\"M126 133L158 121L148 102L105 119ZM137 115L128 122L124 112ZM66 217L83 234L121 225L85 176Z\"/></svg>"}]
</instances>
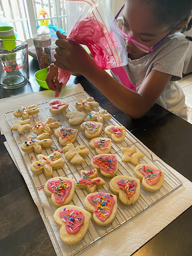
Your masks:
<instances>
[{"instance_id":1,"label":"girl's lower hand beside the green bowl, guiding the bag tip","mask_svg":"<svg viewBox=\"0 0 192 256\"><path fill-rule=\"evenodd\" d=\"M53 63L47 67L47 76L46 83L50 90L56 91L57 93L61 92L62 83L58 81L58 67L56 67Z\"/></svg>"}]
</instances>

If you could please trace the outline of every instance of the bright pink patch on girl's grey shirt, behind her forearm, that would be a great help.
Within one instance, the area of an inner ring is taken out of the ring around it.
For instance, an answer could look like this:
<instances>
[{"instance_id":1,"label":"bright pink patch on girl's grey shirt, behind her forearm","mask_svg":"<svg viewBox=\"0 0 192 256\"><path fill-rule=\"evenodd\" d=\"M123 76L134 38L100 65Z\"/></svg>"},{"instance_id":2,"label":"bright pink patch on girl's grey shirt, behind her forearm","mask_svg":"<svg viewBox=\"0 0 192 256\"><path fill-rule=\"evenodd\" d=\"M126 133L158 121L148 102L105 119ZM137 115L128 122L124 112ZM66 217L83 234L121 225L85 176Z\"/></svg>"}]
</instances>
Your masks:
<instances>
[{"instance_id":1,"label":"bright pink patch on girl's grey shirt, behind her forearm","mask_svg":"<svg viewBox=\"0 0 192 256\"><path fill-rule=\"evenodd\" d=\"M118 77L118 80L121 81L122 85L124 85L125 87L133 91L136 91L136 87L138 85L136 87L132 85L123 67L115 67L115 68L112 68L111 71L116 77Z\"/></svg>"}]
</instances>

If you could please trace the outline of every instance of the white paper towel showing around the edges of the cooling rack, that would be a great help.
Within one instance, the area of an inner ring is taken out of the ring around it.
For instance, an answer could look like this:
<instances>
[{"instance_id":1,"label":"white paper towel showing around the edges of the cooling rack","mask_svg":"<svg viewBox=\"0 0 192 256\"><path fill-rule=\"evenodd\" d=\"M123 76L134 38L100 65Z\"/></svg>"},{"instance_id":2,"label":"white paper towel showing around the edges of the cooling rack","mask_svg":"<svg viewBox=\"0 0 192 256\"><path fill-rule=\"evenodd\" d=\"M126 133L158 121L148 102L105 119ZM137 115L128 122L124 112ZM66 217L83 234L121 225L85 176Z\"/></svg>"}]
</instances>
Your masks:
<instances>
[{"instance_id":1,"label":"white paper towel showing around the edges of the cooling rack","mask_svg":"<svg viewBox=\"0 0 192 256\"><path fill-rule=\"evenodd\" d=\"M64 95L61 95L61 97L65 95L77 93L79 92L79 91L76 91L78 89L82 91L82 87L80 88L80 86L74 85L73 89L74 89L73 91L68 90L67 93L64 92L63 93ZM10 130L3 114L7 111L12 111L15 108L14 106L16 105L20 105L20 104L31 105L34 103L37 104L42 102L43 100L49 101L52 98L53 98L53 92L43 91L38 93L14 96L8 99L1 99L0 102L1 102L1 106L3 105L3 110L0 113L0 124L1 124L1 129L5 134L5 137L8 143L8 145L7 143L5 143L5 145L7 148L10 146L11 150L8 150L8 151L10 154L13 152L13 155L11 155L11 157L13 158L14 162L15 162L15 159L17 159L17 163L19 165L20 171L26 181L27 186L29 187L31 196L33 197L33 200L39 209L39 212L45 223L45 226L47 228L47 231L49 233L49 236L55 248L55 251L57 255L60 255L57 250L55 241L52 237L52 233L49 228L49 225L47 224L43 216L39 201L34 193L33 186L31 185L30 177L26 173L25 166L21 159L21 155L18 152L18 149L14 142L13 137L10 136ZM151 154L155 159L158 159L158 157L155 156L152 152ZM163 198L161 201L159 201L155 205L149 207L149 209L145 210L144 212L137 215L127 223L123 224L121 227L119 227L115 231L111 232L110 234L103 237L102 239L99 239L92 246L89 246L86 250L83 250L78 255L83 254L83 256L88 256L92 254L93 250L94 250L94 255L98 255L98 256L100 255L107 256L111 254L115 255L115 254L119 254L119 248L121 248L121 255L123 256L131 255L132 253L134 253L134 251L139 249L139 247L141 247L143 244L149 241L154 235L159 233L159 231L161 231L170 222L172 222L175 218L177 218L183 211L185 211L188 207L191 206L192 204L191 184L192 183L188 181L185 177L183 177L181 174L179 174L177 171L173 170L168 165L166 166L183 182L183 185L179 189L177 189L176 191L168 195L167 197ZM159 219L159 215L161 216L160 219ZM148 216L150 216L150 219L148 218ZM159 219L159 222L155 221L157 218ZM153 222L153 229L151 229L151 226L150 226L151 222ZM129 230L131 230L131 232L129 232ZM122 239L122 234L123 234L123 237L126 237L126 240Z\"/></svg>"}]
</instances>

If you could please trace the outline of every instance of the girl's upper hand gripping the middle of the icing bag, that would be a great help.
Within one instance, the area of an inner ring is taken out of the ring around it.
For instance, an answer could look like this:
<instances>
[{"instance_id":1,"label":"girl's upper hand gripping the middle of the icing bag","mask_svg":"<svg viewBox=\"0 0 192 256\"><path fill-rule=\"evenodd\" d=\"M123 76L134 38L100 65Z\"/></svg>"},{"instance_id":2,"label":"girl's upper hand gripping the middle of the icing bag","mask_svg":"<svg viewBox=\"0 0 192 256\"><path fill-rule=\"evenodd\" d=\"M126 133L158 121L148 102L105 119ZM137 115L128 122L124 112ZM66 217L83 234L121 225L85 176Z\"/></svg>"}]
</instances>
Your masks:
<instances>
[{"instance_id":1,"label":"girl's upper hand gripping the middle of the icing bag","mask_svg":"<svg viewBox=\"0 0 192 256\"><path fill-rule=\"evenodd\" d=\"M58 46L55 48L56 53L54 54L55 66L71 73L83 75L83 72L94 63L93 59L81 45L67 41L66 36L61 32L57 31L57 37L59 39L55 41Z\"/></svg>"}]
</instances>

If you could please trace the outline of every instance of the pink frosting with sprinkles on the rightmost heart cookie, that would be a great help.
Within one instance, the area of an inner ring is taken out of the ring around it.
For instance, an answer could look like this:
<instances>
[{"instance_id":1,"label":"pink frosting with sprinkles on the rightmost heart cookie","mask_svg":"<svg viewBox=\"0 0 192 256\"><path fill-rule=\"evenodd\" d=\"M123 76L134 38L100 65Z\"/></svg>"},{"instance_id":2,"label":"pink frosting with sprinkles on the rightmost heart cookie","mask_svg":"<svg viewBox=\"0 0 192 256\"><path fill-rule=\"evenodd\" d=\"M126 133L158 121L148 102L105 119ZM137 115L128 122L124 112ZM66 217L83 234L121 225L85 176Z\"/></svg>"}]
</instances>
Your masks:
<instances>
[{"instance_id":1,"label":"pink frosting with sprinkles on the rightmost heart cookie","mask_svg":"<svg viewBox=\"0 0 192 256\"><path fill-rule=\"evenodd\" d=\"M162 173L161 170L151 168L147 165L140 167L138 170L144 175L147 184L149 184L150 186L157 184Z\"/></svg>"}]
</instances>

